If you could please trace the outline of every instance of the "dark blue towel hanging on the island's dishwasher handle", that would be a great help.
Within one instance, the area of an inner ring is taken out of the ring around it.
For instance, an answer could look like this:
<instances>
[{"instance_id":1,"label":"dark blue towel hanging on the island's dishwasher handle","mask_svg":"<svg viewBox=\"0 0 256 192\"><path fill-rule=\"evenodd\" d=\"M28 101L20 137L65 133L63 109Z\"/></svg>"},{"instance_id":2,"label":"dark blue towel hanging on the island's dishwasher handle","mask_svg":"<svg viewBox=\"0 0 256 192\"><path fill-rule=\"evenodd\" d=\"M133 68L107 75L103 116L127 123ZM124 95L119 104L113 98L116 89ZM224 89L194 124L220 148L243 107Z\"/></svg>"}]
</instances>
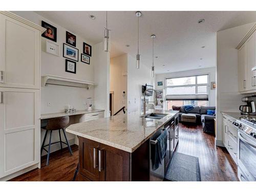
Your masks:
<instances>
[{"instance_id":1,"label":"dark blue towel hanging on the island's dishwasher handle","mask_svg":"<svg viewBox=\"0 0 256 192\"><path fill-rule=\"evenodd\" d=\"M167 131L164 130L161 135L156 139L156 144L151 144L151 159L152 159L152 169L156 170L160 165L162 165L162 160L166 155L167 150ZM155 146L154 146L155 145Z\"/></svg>"}]
</instances>

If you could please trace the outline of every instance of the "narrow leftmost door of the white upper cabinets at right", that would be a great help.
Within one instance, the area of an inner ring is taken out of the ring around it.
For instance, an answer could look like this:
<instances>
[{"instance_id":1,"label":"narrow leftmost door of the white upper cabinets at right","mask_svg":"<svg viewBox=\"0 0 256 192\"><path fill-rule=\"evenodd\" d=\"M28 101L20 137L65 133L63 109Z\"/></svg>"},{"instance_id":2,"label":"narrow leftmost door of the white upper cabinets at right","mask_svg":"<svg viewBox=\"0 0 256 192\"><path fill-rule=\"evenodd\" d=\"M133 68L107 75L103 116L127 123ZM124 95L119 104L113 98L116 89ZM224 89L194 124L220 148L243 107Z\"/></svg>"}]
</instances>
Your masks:
<instances>
[{"instance_id":1,"label":"narrow leftmost door of the white upper cabinets at right","mask_svg":"<svg viewBox=\"0 0 256 192\"><path fill-rule=\"evenodd\" d=\"M238 51L239 59L239 91L245 91L247 88L247 55L246 45L244 44Z\"/></svg>"}]
</instances>

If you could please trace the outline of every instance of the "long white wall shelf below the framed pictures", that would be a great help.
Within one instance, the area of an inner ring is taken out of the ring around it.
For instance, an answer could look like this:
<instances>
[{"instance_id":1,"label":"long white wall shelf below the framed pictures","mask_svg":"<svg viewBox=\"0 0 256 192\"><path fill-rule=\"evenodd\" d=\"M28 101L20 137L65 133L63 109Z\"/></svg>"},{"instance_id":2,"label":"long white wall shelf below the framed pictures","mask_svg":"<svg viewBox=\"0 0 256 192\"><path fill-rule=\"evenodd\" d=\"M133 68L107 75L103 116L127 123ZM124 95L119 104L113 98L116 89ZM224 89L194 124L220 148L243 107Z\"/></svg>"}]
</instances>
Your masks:
<instances>
[{"instance_id":1,"label":"long white wall shelf below the framed pictures","mask_svg":"<svg viewBox=\"0 0 256 192\"><path fill-rule=\"evenodd\" d=\"M60 76L55 76L55 75L43 75L43 76L41 76L41 86L45 87L48 84L55 84L55 85L58 85L58 86L86 88L88 90L92 86L94 86L94 82L92 82L92 81L72 79L72 78L60 77Z\"/></svg>"}]
</instances>

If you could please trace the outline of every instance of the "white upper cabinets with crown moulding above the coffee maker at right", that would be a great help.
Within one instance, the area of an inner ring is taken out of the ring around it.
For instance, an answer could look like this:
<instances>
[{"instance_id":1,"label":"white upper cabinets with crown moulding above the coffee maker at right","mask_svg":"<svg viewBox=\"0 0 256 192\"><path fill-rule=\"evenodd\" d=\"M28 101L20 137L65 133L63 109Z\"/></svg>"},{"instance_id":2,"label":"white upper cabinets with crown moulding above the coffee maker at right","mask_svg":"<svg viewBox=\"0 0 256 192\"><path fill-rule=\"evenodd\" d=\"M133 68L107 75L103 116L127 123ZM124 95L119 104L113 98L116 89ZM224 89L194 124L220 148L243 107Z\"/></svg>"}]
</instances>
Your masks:
<instances>
[{"instance_id":1,"label":"white upper cabinets with crown moulding above the coffee maker at right","mask_svg":"<svg viewBox=\"0 0 256 192\"><path fill-rule=\"evenodd\" d=\"M237 46L239 66L239 91L241 93L256 92L256 24Z\"/></svg>"}]
</instances>

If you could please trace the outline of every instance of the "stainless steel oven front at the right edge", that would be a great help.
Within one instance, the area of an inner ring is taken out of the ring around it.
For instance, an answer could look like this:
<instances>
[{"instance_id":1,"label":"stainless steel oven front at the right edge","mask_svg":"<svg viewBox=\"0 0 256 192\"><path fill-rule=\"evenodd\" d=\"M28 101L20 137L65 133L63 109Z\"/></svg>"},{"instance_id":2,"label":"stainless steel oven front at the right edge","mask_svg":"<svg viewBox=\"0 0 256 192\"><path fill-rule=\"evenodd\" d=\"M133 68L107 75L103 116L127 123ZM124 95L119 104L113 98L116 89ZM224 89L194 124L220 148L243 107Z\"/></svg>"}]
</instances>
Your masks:
<instances>
[{"instance_id":1,"label":"stainless steel oven front at the right edge","mask_svg":"<svg viewBox=\"0 0 256 192\"><path fill-rule=\"evenodd\" d=\"M238 176L241 181L256 181L256 139L240 127L238 130Z\"/></svg>"}]
</instances>

